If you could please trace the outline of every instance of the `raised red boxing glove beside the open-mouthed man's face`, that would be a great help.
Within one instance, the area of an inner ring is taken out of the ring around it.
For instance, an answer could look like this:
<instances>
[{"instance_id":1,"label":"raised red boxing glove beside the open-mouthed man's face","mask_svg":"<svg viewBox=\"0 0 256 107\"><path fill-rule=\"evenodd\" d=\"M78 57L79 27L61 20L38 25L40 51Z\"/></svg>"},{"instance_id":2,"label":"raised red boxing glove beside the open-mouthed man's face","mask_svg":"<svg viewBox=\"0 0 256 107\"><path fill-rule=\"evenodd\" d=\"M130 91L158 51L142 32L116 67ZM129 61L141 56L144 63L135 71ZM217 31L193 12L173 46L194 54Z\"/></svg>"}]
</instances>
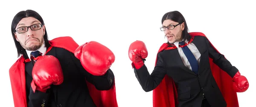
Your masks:
<instances>
[{"instance_id":1,"label":"raised red boxing glove beside the open-mouthed man's face","mask_svg":"<svg viewBox=\"0 0 256 107\"><path fill-rule=\"evenodd\" d=\"M132 66L134 65L136 69L140 69L144 65L143 60L148 57L148 50L145 43L140 40L131 43L128 55L132 61Z\"/></svg>"}]
</instances>

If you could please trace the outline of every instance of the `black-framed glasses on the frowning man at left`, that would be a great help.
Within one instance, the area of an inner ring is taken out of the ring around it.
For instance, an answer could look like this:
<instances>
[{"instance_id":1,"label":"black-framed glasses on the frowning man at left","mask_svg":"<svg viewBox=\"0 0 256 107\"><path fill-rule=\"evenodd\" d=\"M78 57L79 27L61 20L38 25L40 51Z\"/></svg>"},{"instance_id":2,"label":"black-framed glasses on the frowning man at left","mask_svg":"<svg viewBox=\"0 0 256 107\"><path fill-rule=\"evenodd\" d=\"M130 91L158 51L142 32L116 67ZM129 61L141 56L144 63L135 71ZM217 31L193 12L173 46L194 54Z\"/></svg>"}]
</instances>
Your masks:
<instances>
[{"instance_id":1,"label":"black-framed glasses on the frowning man at left","mask_svg":"<svg viewBox=\"0 0 256 107\"><path fill-rule=\"evenodd\" d=\"M33 24L31 26L22 26L22 27L18 27L15 32L18 32L18 33L25 33L25 32L28 32L29 31L29 28L31 30L39 30L42 28L42 24L40 23L37 23L37 24Z\"/></svg>"}]
</instances>

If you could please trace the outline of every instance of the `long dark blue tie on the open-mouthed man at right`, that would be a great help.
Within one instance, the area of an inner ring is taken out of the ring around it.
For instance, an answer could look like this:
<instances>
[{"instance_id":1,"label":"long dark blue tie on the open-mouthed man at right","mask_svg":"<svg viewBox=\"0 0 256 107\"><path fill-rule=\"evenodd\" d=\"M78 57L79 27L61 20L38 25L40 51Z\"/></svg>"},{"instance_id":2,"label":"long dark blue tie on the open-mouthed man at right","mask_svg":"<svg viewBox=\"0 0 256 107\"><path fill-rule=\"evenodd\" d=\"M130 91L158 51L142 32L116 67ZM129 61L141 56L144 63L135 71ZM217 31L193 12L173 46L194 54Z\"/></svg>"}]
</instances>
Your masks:
<instances>
[{"instance_id":1,"label":"long dark blue tie on the open-mouthed man at right","mask_svg":"<svg viewBox=\"0 0 256 107\"><path fill-rule=\"evenodd\" d=\"M182 46L185 44L184 41L179 42L179 44ZM186 58L189 60L189 64L192 67L192 71L195 72L195 74L198 74L198 61L196 60L193 53L189 50L188 46L181 47L184 54L186 55Z\"/></svg>"}]
</instances>

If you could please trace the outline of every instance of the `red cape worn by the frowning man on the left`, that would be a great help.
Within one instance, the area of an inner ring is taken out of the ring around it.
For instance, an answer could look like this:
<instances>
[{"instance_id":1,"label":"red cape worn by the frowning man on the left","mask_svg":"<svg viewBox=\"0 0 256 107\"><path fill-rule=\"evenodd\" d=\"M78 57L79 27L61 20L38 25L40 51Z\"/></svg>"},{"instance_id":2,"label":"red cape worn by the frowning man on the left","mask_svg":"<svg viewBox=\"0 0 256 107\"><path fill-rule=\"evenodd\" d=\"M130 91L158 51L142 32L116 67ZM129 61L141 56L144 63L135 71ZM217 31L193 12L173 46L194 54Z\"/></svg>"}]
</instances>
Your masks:
<instances>
[{"instance_id":1,"label":"red cape worn by the frowning man on the left","mask_svg":"<svg viewBox=\"0 0 256 107\"><path fill-rule=\"evenodd\" d=\"M53 40L49 40L49 43L51 46L47 49L47 52L49 52L52 46L54 46L67 49L74 53L76 48L79 46L71 37L55 38ZM9 69L15 107L27 107L25 61L30 61L30 59L25 60L22 55ZM86 82L90 95L97 107L118 107L116 101L115 81L113 81L112 88L107 91L99 91L93 86L93 84L90 84L88 81Z\"/></svg>"}]
</instances>

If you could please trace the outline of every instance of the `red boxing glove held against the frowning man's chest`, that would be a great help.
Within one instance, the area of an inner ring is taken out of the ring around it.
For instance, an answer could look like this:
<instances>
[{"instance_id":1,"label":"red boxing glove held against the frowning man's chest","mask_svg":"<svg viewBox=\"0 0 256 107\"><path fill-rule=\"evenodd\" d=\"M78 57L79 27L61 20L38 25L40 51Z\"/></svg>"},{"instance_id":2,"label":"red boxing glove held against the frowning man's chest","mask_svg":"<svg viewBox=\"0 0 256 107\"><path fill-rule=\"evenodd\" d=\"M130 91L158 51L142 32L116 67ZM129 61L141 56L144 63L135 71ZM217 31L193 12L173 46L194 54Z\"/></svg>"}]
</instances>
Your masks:
<instances>
[{"instance_id":1,"label":"red boxing glove held against the frowning man's chest","mask_svg":"<svg viewBox=\"0 0 256 107\"><path fill-rule=\"evenodd\" d=\"M46 93L51 84L59 85L63 82L63 72L61 64L57 58L52 55L39 56L32 69L33 80L31 82L32 90Z\"/></svg>"}]
</instances>

